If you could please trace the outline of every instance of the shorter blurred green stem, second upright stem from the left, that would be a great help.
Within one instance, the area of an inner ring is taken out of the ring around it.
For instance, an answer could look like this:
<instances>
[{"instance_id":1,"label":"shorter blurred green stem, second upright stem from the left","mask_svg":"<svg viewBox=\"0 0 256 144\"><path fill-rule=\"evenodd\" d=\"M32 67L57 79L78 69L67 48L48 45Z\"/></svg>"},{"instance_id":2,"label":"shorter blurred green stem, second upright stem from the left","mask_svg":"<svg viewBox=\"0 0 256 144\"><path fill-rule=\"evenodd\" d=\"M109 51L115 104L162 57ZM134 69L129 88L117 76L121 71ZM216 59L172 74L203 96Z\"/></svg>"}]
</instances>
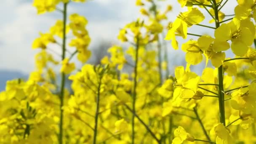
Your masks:
<instances>
[{"instance_id":1,"label":"shorter blurred green stem, second upright stem from the left","mask_svg":"<svg viewBox=\"0 0 256 144\"><path fill-rule=\"evenodd\" d=\"M93 144L96 144L96 137L98 132L98 118L99 118L99 100L100 100L100 90L101 90L101 78L99 78L99 85L97 89L97 98L96 98L96 112L94 117L94 134L93 134Z\"/></svg>"}]
</instances>

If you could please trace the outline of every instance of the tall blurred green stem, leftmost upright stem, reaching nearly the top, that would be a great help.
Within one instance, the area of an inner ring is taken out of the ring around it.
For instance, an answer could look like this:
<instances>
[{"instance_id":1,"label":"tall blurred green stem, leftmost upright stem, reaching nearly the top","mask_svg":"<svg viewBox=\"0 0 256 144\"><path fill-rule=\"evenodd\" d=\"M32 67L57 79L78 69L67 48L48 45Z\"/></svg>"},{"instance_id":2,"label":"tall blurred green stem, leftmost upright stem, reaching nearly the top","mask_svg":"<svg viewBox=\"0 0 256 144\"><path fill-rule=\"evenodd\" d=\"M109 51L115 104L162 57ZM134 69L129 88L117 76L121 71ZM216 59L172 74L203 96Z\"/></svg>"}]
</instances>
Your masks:
<instances>
[{"instance_id":1,"label":"tall blurred green stem, leftmost upright stem, reaching nearly the top","mask_svg":"<svg viewBox=\"0 0 256 144\"><path fill-rule=\"evenodd\" d=\"M63 10L63 41L62 41L62 60L65 59L66 53L66 23L67 23L67 3L64 3ZM63 137L63 104L64 104L64 88L65 88L65 74L61 73L61 92L60 92L60 123L59 123L59 144L62 144Z\"/></svg>"}]
</instances>

